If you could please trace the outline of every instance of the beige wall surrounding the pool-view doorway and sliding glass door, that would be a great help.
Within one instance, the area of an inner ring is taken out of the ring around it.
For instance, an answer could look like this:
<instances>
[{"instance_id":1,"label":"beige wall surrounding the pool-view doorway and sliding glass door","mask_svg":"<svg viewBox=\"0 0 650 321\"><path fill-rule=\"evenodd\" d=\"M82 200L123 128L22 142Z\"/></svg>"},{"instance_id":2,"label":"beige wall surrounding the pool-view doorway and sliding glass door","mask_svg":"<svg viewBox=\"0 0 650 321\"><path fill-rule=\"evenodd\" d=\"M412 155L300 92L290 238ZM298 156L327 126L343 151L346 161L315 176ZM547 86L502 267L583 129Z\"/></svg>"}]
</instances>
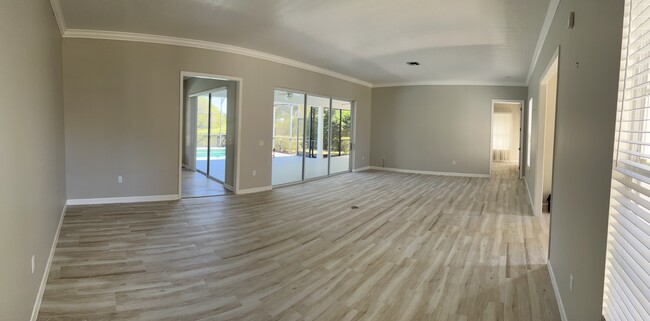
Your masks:
<instances>
[{"instance_id":1,"label":"beige wall surrounding the pool-view doorway and sliding glass door","mask_svg":"<svg viewBox=\"0 0 650 321\"><path fill-rule=\"evenodd\" d=\"M64 39L63 66L69 199L177 194L181 71L243 78L239 188L271 185L275 87L357 101L354 168L368 165L370 88L361 85L235 54L110 40Z\"/></svg>"}]
</instances>

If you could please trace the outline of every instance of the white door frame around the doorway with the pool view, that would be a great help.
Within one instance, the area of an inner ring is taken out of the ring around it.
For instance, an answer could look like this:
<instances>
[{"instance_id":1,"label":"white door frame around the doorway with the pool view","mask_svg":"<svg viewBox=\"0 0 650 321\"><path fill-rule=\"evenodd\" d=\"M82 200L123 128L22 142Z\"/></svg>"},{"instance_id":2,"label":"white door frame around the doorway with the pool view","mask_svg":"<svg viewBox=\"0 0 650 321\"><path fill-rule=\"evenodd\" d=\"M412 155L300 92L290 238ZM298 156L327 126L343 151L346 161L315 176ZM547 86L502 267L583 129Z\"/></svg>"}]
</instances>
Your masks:
<instances>
[{"instance_id":1,"label":"white door frame around the doorway with the pool view","mask_svg":"<svg viewBox=\"0 0 650 321\"><path fill-rule=\"evenodd\" d=\"M193 78L207 78L207 79L216 79L216 80L226 80L226 81L235 81L237 82L237 111L236 111L236 124L235 126L237 127L235 129L235 132L237 133L236 141L235 141L235 158L234 158L234 164L233 164L233 184L232 186L235 194L239 194L240 188L239 188L239 178L240 178L240 160L241 160L241 115L242 115L242 98L243 98L243 91L244 91L244 78L241 77L233 77L233 76L225 76L225 75L216 75L216 74L206 74L206 73L200 73L200 72L192 72L192 71L182 71L180 72L180 103L179 103L179 131L178 131L178 198L180 199L182 197L182 179L183 179L183 112L184 112L184 101L185 101L185 95L184 95L184 78L185 77L193 77Z\"/></svg>"}]
</instances>

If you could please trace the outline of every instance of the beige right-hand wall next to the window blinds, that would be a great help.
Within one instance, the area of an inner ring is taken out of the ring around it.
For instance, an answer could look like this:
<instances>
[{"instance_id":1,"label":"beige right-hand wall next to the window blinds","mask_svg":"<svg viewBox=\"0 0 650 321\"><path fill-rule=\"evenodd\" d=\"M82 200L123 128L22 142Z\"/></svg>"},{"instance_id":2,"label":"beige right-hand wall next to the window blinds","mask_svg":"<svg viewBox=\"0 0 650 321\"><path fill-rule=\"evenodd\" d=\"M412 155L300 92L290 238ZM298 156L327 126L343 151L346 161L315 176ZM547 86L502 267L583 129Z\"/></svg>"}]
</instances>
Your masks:
<instances>
[{"instance_id":1,"label":"beige right-hand wall next to the window blinds","mask_svg":"<svg viewBox=\"0 0 650 321\"><path fill-rule=\"evenodd\" d=\"M601 319L623 4L561 1L529 87L535 151L537 84L560 46L550 264L568 320ZM567 29L571 11L576 24ZM526 173L529 187L539 166L534 154ZM575 278L573 292L569 274Z\"/></svg>"}]
</instances>

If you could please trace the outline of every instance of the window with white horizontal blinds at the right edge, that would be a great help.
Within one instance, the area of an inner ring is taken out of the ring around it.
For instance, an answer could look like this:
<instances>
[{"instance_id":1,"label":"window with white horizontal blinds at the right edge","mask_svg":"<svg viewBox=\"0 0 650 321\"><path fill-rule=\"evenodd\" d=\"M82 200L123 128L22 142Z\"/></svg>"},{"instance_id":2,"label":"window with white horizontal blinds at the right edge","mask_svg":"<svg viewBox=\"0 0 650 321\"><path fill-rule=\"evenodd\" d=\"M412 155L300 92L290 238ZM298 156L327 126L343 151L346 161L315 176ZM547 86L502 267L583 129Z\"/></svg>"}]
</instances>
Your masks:
<instances>
[{"instance_id":1,"label":"window with white horizontal blinds at the right edge","mask_svg":"<svg viewBox=\"0 0 650 321\"><path fill-rule=\"evenodd\" d=\"M650 320L650 0L626 0L603 315Z\"/></svg>"}]
</instances>

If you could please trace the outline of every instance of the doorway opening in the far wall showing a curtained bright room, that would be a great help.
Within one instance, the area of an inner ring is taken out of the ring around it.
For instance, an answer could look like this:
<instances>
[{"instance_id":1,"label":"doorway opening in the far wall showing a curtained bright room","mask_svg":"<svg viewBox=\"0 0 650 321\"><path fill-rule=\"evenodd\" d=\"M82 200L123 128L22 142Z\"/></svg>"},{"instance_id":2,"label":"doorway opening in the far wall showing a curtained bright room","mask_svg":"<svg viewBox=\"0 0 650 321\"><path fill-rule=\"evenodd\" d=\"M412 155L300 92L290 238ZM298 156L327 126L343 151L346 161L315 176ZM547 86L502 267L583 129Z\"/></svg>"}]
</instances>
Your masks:
<instances>
[{"instance_id":1,"label":"doorway opening in the far wall showing a curtained bright room","mask_svg":"<svg viewBox=\"0 0 650 321\"><path fill-rule=\"evenodd\" d=\"M521 178L523 100L492 100L490 175Z\"/></svg>"}]
</instances>

